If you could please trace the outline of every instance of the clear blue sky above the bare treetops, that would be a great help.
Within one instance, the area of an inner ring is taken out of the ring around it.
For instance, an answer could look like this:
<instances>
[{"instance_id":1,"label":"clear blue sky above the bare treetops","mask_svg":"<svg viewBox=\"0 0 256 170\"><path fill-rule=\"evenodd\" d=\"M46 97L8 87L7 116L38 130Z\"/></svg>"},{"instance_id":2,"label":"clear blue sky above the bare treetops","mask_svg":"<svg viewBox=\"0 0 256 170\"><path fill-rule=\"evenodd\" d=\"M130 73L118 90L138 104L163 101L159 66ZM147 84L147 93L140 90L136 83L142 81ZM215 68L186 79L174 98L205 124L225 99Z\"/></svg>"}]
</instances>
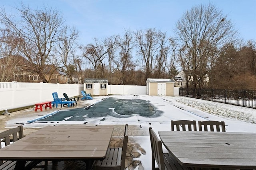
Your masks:
<instances>
[{"instance_id":1,"label":"clear blue sky above the bare treetops","mask_svg":"<svg viewBox=\"0 0 256 170\"><path fill-rule=\"evenodd\" d=\"M256 40L256 0L1 0L6 13L15 13L20 2L32 9L42 6L59 10L66 24L79 31L79 43L93 43L94 38L124 35L124 30L155 28L174 36L177 21L186 10L212 3L232 20L246 42Z\"/></svg>"}]
</instances>

